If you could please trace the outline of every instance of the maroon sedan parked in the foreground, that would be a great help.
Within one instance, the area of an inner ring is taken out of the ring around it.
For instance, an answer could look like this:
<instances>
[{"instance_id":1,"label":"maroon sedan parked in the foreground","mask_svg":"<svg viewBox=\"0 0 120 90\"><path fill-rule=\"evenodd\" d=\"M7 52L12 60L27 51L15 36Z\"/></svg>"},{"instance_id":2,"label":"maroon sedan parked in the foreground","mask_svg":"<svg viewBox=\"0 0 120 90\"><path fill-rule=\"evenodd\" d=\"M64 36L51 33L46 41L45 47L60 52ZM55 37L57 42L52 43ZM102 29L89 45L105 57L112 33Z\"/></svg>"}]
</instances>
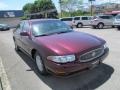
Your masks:
<instances>
[{"instance_id":1,"label":"maroon sedan parked in the foreground","mask_svg":"<svg viewBox=\"0 0 120 90\"><path fill-rule=\"evenodd\" d=\"M56 19L25 20L13 33L15 49L30 55L41 74L66 75L91 68L109 52L103 39L73 31Z\"/></svg>"}]
</instances>

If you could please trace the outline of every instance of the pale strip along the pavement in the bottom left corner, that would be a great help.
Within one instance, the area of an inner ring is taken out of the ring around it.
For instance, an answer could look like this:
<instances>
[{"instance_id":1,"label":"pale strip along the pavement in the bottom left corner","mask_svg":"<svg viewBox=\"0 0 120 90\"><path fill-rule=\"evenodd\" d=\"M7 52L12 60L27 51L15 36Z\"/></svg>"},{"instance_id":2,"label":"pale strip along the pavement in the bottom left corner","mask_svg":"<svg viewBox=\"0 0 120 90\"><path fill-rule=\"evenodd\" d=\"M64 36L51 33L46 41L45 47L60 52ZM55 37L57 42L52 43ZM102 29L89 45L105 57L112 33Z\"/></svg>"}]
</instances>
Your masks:
<instances>
[{"instance_id":1,"label":"pale strip along the pavement in the bottom left corner","mask_svg":"<svg viewBox=\"0 0 120 90\"><path fill-rule=\"evenodd\" d=\"M4 66L2 64L1 57L0 57L0 79L1 79L1 88L2 88L2 90L11 90L7 74L6 74Z\"/></svg>"}]
</instances>

